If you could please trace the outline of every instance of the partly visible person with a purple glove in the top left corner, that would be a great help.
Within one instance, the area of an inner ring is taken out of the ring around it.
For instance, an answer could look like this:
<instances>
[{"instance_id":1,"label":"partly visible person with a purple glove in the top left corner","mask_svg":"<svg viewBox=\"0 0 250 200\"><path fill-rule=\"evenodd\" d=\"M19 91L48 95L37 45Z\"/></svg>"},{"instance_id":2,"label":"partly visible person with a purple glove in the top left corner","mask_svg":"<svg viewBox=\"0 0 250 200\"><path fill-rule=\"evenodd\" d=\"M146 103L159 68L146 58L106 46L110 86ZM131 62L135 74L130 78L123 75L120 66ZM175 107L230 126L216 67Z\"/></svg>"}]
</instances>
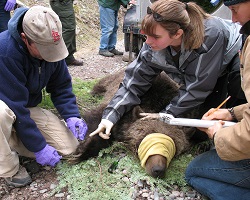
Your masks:
<instances>
[{"instance_id":1,"label":"partly visible person with a purple glove in the top left corner","mask_svg":"<svg viewBox=\"0 0 250 200\"><path fill-rule=\"evenodd\" d=\"M8 29L10 11L14 9L16 0L0 1L0 33Z\"/></svg>"}]
</instances>

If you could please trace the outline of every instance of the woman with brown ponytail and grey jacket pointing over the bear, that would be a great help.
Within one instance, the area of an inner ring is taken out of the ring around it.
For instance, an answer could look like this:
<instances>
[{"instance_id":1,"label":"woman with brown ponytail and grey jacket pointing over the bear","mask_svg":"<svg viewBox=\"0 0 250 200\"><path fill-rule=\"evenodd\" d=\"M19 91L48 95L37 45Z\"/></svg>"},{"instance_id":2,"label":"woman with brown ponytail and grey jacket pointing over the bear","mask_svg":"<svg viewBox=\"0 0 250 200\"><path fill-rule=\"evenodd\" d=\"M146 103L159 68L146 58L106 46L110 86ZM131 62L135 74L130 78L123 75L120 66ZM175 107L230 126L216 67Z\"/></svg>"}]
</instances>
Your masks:
<instances>
[{"instance_id":1,"label":"woman with brown ponytail and grey jacket pointing over the bear","mask_svg":"<svg viewBox=\"0 0 250 200\"><path fill-rule=\"evenodd\" d=\"M199 106L219 105L227 95L228 68L236 66L239 72L239 29L231 21L210 16L192 2L154 2L141 26L146 42L137 59L127 67L122 84L91 135L109 135L113 124L140 104L141 96L162 71L180 85L178 95L162 112L185 117Z\"/></svg>"}]
</instances>

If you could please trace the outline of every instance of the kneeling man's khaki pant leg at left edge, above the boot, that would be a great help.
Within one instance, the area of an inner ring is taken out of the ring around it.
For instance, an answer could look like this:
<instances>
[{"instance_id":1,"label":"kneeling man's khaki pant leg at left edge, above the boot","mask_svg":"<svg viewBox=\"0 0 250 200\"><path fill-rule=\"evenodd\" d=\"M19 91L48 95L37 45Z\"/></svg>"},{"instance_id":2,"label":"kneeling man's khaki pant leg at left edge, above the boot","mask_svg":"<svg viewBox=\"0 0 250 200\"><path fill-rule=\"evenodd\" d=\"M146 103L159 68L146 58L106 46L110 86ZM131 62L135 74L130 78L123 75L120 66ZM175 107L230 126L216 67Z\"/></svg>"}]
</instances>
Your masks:
<instances>
[{"instance_id":1,"label":"kneeling man's khaki pant leg at left edge, above the boot","mask_svg":"<svg viewBox=\"0 0 250 200\"><path fill-rule=\"evenodd\" d=\"M12 110L0 100L0 177L11 177L19 169L18 155L9 145L15 119Z\"/></svg>"}]
</instances>

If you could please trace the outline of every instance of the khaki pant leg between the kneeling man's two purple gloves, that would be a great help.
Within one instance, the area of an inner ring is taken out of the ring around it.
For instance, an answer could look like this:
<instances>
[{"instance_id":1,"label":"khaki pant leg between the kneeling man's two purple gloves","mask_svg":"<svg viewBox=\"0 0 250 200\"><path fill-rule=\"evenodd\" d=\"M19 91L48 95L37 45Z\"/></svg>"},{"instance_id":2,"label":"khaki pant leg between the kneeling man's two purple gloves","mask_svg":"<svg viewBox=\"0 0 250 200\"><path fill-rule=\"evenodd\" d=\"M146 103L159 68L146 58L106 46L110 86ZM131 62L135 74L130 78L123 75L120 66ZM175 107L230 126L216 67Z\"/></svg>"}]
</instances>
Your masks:
<instances>
[{"instance_id":1,"label":"khaki pant leg between the kneeling man's two purple gloves","mask_svg":"<svg viewBox=\"0 0 250 200\"><path fill-rule=\"evenodd\" d=\"M55 114L39 107L29 108L29 110L31 118L36 122L47 143L60 155L69 155L76 150L78 140Z\"/></svg>"}]
</instances>

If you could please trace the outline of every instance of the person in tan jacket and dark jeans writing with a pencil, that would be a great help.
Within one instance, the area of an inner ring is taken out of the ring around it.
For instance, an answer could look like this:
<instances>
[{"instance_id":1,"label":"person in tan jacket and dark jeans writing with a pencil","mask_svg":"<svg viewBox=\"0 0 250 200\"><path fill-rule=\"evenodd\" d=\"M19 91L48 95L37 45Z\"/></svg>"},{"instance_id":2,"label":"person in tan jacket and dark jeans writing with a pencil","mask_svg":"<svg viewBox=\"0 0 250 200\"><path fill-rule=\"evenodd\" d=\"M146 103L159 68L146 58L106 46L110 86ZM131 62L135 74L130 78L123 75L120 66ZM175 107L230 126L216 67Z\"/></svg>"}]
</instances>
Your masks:
<instances>
[{"instance_id":1,"label":"person in tan jacket and dark jeans writing with a pencil","mask_svg":"<svg viewBox=\"0 0 250 200\"><path fill-rule=\"evenodd\" d=\"M232 20L248 35L240 55L241 87L247 103L229 109L209 110L202 119L236 121L222 128L216 122L205 131L215 148L197 156L186 169L186 180L211 200L250 199L250 1L227 0Z\"/></svg>"}]
</instances>

